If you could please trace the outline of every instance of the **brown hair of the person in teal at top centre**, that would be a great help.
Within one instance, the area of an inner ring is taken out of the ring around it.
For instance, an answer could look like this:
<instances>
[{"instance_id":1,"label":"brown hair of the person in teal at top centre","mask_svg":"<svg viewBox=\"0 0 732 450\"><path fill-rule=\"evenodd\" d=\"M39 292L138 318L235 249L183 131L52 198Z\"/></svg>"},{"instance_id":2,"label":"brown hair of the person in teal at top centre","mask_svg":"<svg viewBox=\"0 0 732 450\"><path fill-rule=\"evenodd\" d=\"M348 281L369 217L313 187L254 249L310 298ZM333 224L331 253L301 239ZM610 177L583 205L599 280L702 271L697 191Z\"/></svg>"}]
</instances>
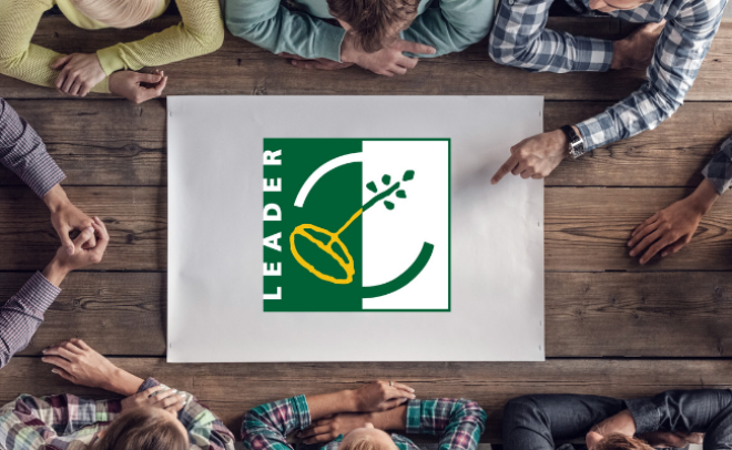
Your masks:
<instances>
[{"instance_id":1,"label":"brown hair of the person in teal at top centre","mask_svg":"<svg viewBox=\"0 0 732 450\"><path fill-rule=\"evenodd\" d=\"M328 0L331 14L350 25L356 48L367 53L388 45L418 6L419 0Z\"/></svg>"}]
</instances>

